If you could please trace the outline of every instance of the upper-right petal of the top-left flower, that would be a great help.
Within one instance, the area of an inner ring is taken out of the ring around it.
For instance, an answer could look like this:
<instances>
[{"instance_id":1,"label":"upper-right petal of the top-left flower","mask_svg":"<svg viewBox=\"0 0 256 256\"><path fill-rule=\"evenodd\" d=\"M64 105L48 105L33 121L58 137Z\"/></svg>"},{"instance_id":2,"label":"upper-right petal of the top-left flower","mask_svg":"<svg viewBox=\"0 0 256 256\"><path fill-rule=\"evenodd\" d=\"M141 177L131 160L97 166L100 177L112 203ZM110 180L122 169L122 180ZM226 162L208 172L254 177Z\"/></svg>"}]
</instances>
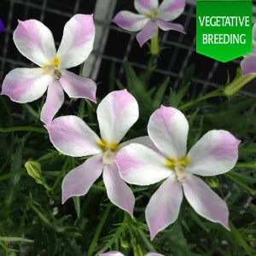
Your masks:
<instances>
[{"instance_id":1,"label":"upper-right petal of the top-left flower","mask_svg":"<svg viewBox=\"0 0 256 256\"><path fill-rule=\"evenodd\" d=\"M95 26L93 15L74 15L64 26L57 56L60 68L75 67L83 63L93 48Z\"/></svg>"}]
</instances>

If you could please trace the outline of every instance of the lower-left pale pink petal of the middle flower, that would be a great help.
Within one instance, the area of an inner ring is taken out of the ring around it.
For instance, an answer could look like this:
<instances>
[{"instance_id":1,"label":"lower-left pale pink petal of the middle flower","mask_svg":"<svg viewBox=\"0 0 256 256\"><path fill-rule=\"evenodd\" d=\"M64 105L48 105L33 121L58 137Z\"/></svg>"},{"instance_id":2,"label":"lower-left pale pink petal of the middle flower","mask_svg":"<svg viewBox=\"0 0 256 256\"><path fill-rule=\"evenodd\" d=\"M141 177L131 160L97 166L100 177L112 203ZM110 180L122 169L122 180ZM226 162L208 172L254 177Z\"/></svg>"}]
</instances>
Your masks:
<instances>
[{"instance_id":1,"label":"lower-left pale pink petal of the middle flower","mask_svg":"<svg viewBox=\"0 0 256 256\"><path fill-rule=\"evenodd\" d=\"M97 154L68 172L62 182L62 204L72 196L85 195L102 174L102 169L102 154Z\"/></svg>"}]
</instances>

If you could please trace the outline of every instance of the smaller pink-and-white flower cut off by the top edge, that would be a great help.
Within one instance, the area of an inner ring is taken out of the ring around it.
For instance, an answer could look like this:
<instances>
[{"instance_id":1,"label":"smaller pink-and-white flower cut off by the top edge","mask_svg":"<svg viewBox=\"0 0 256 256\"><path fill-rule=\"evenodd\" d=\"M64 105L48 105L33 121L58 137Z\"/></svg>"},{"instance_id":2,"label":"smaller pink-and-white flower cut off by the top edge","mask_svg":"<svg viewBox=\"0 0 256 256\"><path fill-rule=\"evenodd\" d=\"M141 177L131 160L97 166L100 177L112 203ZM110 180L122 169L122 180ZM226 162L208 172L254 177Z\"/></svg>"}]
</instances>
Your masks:
<instances>
[{"instance_id":1,"label":"smaller pink-and-white flower cut off by the top edge","mask_svg":"<svg viewBox=\"0 0 256 256\"><path fill-rule=\"evenodd\" d=\"M183 13L185 0L135 0L135 9L139 15L130 11L121 11L113 18L113 22L126 30L137 32L137 41L141 47L156 35L158 27L164 31L183 32L180 24L168 22L175 20Z\"/></svg>"}]
</instances>

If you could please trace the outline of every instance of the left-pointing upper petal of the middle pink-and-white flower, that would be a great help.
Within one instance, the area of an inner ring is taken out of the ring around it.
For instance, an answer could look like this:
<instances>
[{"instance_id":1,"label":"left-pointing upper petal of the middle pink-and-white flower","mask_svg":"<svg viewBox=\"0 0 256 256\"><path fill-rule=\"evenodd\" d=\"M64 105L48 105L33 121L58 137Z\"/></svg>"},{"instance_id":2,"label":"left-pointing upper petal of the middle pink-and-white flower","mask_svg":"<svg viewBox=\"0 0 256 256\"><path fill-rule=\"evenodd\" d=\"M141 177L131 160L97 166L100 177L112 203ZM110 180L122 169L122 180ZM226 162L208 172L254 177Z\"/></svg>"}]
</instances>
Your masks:
<instances>
[{"instance_id":1,"label":"left-pointing upper petal of the middle pink-and-white flower","mask_svg":"<svg viewBox=\"0 0 256 256\"><path fill-rule=\"evenodd\" d=\"M86 156L102 152L100 138L79 117L61 116L49 126L49 139L62 154Z\"/></svg>"}]
</instances>

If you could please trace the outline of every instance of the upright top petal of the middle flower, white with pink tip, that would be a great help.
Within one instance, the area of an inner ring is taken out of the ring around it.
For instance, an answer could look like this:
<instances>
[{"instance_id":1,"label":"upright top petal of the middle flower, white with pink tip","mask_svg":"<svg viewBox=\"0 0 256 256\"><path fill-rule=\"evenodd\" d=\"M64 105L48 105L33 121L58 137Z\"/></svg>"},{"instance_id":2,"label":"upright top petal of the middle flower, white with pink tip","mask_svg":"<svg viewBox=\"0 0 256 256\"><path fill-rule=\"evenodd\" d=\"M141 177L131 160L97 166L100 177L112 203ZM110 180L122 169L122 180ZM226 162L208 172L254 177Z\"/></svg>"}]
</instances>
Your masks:
<instances>
[{"instance_id":1,"label":"upright top petal of the middle flower, white with pink tip","mask_svg":"<svg viewBox=\"0 0 256 256\"><path fill-rule=\"evenodd\" d=\"M115 90L97 108L102 139L119 143L138 119L136 99L127 90Z\"/></svg>"}]
</instances>

